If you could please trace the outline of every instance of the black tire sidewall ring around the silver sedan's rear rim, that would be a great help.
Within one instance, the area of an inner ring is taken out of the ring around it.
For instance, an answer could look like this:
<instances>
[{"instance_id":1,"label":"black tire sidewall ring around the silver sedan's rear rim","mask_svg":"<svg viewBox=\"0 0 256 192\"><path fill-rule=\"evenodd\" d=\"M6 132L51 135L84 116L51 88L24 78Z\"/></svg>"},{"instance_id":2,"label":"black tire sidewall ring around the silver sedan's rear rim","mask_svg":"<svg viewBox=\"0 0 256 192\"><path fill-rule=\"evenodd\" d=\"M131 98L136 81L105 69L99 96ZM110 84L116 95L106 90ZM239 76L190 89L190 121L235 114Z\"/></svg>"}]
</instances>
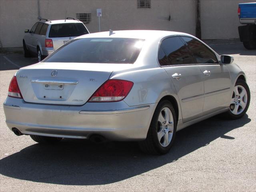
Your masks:
<instances>
[{"instance_id":1,"label":"black tire sidewall ring around the silver sedan's rear rim","mask_svg":"<svg viewBox=\"0 0 256 192\"><path fill-rule=\"evenodd\" d=\"M158 140L157 124L158 124L158 116L159 116L160 112L162 111L162 109L165 107L169 108L172 112L173 121L174 121L173 122L174 129L173 129L173 135L172 135L172 140L171 140L170 144L166 147L163 147ZM176 113L175 113L175 110L174 110L171 102L164 100L158 104L158 106L156 107L156 110L154 112L150 128L152 131L153 142L154 142L154 146L156 147L156 150L160 154L166 154L170 150L170 148L172 147L172 145L174 143L175 136L176 136L176 129L177 129Z\"/></svg>"}]
</instances>

